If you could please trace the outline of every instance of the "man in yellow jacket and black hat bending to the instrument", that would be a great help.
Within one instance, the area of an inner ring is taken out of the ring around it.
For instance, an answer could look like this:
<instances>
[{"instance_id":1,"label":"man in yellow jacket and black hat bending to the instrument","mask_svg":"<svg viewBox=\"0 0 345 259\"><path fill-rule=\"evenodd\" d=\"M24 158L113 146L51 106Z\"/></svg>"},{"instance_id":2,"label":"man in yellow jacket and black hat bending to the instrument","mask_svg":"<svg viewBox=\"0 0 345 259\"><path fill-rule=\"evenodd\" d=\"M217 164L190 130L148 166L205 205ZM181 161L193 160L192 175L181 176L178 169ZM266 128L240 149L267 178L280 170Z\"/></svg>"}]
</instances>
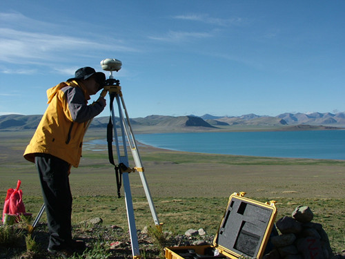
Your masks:
<instances>
[{"instance_id":1,"label":"man in yellow jacket and black hat bending to the instrument","mask_svg":"<svg viewBox=\"0 0 345 259\"><path fill-rule=\"evenodd\" d=\"M87 124L106 106L99 97L88 105L106 81L106 75L90 67L79 68L75 77L47 90L48 108L26 147L24 157L34 162L39 172L50 239L48 251L68 258L83 242L72 240L72 195L68 175L81 157Z\"/></svg>"}]
</instances>

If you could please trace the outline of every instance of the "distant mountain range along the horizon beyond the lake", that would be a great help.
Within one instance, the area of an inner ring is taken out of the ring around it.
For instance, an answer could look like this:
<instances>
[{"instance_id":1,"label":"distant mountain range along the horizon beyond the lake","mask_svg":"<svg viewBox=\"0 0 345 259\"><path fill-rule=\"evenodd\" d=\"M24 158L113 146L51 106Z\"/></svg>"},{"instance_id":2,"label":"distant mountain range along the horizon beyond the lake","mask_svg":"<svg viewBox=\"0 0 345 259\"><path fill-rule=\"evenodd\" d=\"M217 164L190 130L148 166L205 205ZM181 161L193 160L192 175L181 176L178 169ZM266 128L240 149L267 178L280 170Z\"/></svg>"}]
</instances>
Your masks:
<instances>
[{"instance_id":1,"label":"distant mountain range along the horizon beyond the lake","mask_svg":"<svg viewBox=\"0 0 345 259\"><path fill-rule=\"evenodd\" d=\"M0 116L0 130L19 131L34 129L39 124L42 115L2 115ZM95 117L90 128L106 128L109 117ZM334 126L345 125L345 112L341 113L282 113L275 117L255 115L253 113L242 116L213 116L195 115L164 116L150 115L130 119L134 129L147 131L179 131L179 130L211 130L217 128L231 128L231 126Z\"/></svg>"}]
</instances>

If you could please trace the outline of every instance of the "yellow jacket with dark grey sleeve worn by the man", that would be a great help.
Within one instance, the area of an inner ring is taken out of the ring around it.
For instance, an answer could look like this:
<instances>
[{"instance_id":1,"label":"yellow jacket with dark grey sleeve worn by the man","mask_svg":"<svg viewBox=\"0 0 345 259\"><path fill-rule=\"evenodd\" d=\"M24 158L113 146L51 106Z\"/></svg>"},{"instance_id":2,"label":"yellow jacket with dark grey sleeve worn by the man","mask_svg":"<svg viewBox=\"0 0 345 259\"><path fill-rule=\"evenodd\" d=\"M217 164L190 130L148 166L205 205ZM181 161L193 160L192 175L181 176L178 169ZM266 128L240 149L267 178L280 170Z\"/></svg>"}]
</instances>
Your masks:
<instances>
[{"instance_id":1,"label":"yellow jacket with dark grey sleeve worn by the man","mask_svg":"<svg viewBox=\"0 0 345 259\"><path fill-rule=\"evenodd\" d=\"M90 95L78 81L60 83L48 89L47 96L48 108L24 157L34 162L36 153L48 153L78 167L86 125L104 106L87 105Z\"/></svg>"}]
</instances>

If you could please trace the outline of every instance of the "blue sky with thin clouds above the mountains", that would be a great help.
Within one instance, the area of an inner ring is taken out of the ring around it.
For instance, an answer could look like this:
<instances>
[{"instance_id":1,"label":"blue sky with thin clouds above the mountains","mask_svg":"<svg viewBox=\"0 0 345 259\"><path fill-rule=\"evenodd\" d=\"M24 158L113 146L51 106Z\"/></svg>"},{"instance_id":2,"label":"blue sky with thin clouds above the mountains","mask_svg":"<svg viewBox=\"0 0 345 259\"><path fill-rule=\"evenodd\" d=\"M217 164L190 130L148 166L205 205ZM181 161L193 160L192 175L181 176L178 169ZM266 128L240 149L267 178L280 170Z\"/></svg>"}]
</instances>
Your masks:
<instances>
[{"instance_id":1,"label":"blue sky with thin clouds above the mountains","mask_svg":"<svg viewBox=\"0 0 345 259\"><path fill-rule=\"evenodd\" d=\"M345 111L344 10L340 0L0 1L0 115L43 114L46 89L106 58L123 63L115 78L130 117Z\"/></svg>"}]
</instances>

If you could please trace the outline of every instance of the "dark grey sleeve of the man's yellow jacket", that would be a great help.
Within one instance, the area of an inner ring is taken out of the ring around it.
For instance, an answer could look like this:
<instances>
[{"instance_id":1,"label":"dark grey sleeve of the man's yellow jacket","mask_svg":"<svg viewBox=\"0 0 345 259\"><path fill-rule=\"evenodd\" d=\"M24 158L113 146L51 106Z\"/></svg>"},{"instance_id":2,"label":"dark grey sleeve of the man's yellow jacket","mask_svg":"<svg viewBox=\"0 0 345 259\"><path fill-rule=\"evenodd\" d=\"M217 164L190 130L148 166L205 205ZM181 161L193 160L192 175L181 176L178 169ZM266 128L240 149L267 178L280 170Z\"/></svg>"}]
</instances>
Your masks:
<instances>
[{"instance_id":1,"label":"dark grey sleeve of the man's yellow jacket","mask_svg":"<svg viewBox=\"0 0 345 259\"><path fill-rule=\"evenodd\" d=\"M83 123L99 115L104 106L99 102L87 105L83 91L77 87L67 87L65 91L68 110L73 122Z\"/></svg>"}]
</instances>

